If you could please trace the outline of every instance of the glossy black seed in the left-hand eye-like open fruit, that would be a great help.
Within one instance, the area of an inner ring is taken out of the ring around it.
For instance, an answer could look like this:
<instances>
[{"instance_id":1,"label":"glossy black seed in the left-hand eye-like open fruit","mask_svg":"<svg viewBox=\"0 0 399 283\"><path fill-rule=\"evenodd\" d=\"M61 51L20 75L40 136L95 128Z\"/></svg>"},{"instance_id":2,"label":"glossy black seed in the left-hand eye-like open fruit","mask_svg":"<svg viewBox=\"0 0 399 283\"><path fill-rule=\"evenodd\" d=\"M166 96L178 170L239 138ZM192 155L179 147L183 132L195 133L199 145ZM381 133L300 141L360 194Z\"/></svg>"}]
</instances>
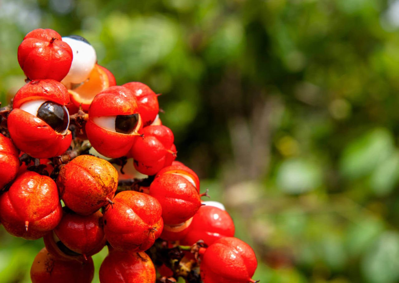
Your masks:
<instances>
[{"instance_id":1,"label":"glossy black seed in the left-hand eye-like open fruit","mask_svg":"<svg viewBox=\"0 0 399 283\"><path fill-rule=\"evenodd\" d=\"M36 116L58 133L62 133L68 127L69 118L65 107L55 102L46 101L42 103Z\"/></svg>"}]
</instances>

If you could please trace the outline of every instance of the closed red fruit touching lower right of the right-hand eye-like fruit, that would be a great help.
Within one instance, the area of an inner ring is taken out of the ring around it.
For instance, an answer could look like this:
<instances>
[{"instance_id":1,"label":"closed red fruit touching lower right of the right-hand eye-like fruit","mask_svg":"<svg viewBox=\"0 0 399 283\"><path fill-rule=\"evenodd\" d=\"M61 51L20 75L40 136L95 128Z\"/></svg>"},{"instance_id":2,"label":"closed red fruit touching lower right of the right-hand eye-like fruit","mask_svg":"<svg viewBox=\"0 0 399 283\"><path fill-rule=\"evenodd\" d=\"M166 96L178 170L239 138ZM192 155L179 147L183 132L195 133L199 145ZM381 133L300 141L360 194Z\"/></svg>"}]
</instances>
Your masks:
<instances>
[{"instance_id":1,"label":"closed red fruit touching lower right of the right-hand eye-like fruit","mask_svg":"<svg viewBox=\"0 0 399 283\"><path fill-rule=\"evenodd\" d=\"M173 133L165 126L148 126L139 131L143 137L136 137L131 156L134 168L142 174L154 175L172 164L176 157Z\"/></svg>"}]
</instances>

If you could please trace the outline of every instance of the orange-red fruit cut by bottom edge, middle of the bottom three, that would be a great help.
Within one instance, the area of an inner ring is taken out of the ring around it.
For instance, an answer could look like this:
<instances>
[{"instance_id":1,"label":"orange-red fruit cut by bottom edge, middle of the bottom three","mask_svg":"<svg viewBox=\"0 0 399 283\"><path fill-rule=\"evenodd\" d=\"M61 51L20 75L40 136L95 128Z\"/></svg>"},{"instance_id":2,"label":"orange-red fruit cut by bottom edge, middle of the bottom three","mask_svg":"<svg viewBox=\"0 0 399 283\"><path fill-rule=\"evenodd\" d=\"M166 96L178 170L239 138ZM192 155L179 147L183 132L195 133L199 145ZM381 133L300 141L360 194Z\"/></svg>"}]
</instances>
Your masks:
<instances>
[{"instance_id":1,"label":"orange-red fruit cut by bottom edge, middle of the bottom three","mask_svg":"<svg viewBox=\"0 0 399 283\"><path fill-rule=\"evenodd\" d=\"M154 283L154 263L144 252L111 251L101 264L101 283Z\"/></svg>"}]
</instances>

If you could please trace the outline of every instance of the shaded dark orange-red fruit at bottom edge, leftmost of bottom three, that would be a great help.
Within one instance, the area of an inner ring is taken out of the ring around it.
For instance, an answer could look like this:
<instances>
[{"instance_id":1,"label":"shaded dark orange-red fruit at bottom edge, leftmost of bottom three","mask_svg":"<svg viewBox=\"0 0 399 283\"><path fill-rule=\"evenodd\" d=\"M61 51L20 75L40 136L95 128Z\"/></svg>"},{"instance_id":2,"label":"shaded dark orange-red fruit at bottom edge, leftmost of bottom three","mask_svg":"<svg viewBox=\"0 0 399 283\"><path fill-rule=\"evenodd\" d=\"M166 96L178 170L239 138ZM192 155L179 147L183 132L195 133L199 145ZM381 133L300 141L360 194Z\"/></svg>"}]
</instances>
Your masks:
<instances>
[{"instance_id":1,"label":"shaded dark orange-red fruit at bottom edge, leftmost of bottom three","mask_svg":"<svg viewBox=\"0 0 399 283\"><path fill-rule=\"evenodd\" d=\"M32 283L90 283L94 276L91 257L87 261L55 257L45 247L36 255L30 269Z\"/></svg>"}]
</instances>

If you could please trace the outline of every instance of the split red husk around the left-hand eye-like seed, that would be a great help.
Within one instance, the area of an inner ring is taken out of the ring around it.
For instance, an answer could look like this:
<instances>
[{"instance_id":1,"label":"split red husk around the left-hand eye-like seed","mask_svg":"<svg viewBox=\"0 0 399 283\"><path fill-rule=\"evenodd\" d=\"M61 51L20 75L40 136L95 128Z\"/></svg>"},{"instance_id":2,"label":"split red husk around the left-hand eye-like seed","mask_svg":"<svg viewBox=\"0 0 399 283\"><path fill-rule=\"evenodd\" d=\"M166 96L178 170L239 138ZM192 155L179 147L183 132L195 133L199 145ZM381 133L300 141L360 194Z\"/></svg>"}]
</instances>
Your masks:
<instances>
[{"instance_id":1,"label":"split red husk around the left-hand eye-like seed","mask_svg":"<svg viewBox=\"0 0 399 283\"><path fill-rule=\"evenodd\" d=\"M14 144L34 158L51 158L65 152L71 145L72 134L54 131L45 121L22 109L33 100L53 101L60 105L69 103L69 93L59 82L46 79L31 81L15 95L13 110L8 115L8 131Z\"/></svg>"}]
</instances>

